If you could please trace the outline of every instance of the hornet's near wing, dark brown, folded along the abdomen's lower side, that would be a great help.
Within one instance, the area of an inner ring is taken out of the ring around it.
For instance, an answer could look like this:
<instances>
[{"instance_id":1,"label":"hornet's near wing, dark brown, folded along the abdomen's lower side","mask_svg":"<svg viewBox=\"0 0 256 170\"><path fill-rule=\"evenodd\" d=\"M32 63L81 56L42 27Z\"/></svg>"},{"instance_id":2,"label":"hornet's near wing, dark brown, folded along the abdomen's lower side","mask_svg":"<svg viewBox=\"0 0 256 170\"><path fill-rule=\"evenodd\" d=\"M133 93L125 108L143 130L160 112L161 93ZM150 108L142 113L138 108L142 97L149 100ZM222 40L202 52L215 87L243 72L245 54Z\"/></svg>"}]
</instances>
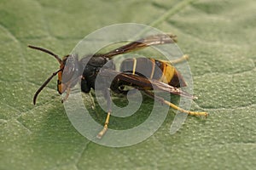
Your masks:
<instances>
[{"instance_id":1,"label":"hornet's near wing, dark brown, folded along the abdomen's lower side","mask_svg":"<svg viewBox=\"0 0 256 170\"><path fill-rule=\"evenodd\" d=\"M137 89L148 90L148 89L157 89L160 91L164 91L170 94L177 94L189 99L195 99L196 97L184 92L181 88L174 88L165 82L160 82L154 79L148 79L147 77L140 77L137 75L132 75L131 73L125 73L120 71L113 70L103 70L99 73L102 77L115 77L114 80L118 80L119 82L124 82L126 85L130 85Z\"/></svg>"}]
</instances>

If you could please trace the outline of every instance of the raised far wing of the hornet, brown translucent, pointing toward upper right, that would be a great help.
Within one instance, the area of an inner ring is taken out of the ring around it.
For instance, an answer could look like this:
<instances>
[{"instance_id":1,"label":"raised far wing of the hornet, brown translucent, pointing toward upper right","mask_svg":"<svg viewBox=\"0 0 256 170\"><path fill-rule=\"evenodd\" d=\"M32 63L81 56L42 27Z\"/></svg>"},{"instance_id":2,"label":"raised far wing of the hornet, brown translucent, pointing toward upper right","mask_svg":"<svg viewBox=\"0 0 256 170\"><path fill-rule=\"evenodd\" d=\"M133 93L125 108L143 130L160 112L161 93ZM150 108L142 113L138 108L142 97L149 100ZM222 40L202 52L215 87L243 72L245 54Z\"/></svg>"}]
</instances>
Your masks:
<instances>
[{"instance_id":1,"label":"raised far wing of the hornet, brown translucent, pointing toward upper right","mask_svg":"<svg viewBox=\"0 0 256 170\"><path fill-rule=\"evenodd\" d=\"M146 48L148 46L160 45L164 43L173 43L173 42L177 42L177 36L173 34L159 34L159 35L144 37L135 42L128 43L122 47L113 49L107 54L102 54L102 56L107 58L112 58L114 55L129 53L131 51L135 51L141 48Z\"/></svg>"}]
</instances>

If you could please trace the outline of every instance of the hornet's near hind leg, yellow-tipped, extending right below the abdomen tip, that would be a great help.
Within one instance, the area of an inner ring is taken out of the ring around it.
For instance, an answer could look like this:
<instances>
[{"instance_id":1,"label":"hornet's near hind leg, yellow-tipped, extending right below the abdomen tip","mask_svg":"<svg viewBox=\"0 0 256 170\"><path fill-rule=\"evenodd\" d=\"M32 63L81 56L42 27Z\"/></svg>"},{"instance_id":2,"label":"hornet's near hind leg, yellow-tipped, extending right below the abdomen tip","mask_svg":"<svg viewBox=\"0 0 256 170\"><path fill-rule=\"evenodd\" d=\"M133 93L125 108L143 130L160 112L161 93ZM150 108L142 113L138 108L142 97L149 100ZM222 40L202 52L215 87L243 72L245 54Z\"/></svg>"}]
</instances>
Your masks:
<instances>
[{"instance_id":1,"label":"hornet's near hind leg, yellow-tipped, extending right below the abdomen tip","mask_svg":"<svg viewBox=\"0 0 256 170\"><path fill-rule=\"evenodd\" d=\"M165 99L163 98L160 98L154 94L152 94L151 92L148 92L147 90L144 90L144 92L146 94L148 94L149 97L151 98L155 98L155 99L158 99L161 103L163 104L166 104L166 105L169 105L170 107L172 107L173 109L177 110L177 111L182 111L183 113L187 113L188 115L191 115L191 116L208 116L208 113L207 112L197 112L197 111L186 111L186 110L183 110L182 108L178 107L177 105L174 105L172 104L171 102L169 101L166 101Z\"/></svg>"}]
</instances>

